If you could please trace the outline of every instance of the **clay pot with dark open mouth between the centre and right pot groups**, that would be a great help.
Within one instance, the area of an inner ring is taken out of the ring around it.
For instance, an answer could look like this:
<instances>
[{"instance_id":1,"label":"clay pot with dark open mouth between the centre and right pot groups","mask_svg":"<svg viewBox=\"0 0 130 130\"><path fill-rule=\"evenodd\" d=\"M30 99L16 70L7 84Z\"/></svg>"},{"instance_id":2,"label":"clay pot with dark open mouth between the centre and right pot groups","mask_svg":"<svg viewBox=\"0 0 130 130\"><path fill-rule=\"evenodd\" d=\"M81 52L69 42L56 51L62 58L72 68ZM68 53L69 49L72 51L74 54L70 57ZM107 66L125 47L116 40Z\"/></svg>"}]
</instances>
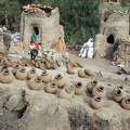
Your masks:
<instances>
[{"instance_id":1,"label":"clay pot with dark open mouth between the centre and right pot groups","mask_svg":"<svg viewBox=\"0 0 130 130\"><path fill-rule=\"evenodd\" d=\"M81 95L81 94L83 94L83 92L84 92L83 84L80 81L76 82L75 83L75 94Z\"/></svg>"}]
</instances>

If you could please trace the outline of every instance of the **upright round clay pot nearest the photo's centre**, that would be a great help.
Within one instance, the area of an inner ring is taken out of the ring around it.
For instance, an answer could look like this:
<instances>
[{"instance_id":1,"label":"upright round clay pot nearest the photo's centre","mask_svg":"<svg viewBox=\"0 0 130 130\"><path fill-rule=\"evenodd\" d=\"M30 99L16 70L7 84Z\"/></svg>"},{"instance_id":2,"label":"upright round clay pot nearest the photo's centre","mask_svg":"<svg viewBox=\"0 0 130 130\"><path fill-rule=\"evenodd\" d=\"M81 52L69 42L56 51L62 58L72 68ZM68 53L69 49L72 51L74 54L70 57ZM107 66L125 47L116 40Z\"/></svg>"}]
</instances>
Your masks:
<instances>
[{"instance_id":1,"label":"upright round clay pot nearest the photo's centre","mask_svg":"<svg viewBox=\"0 0 130 130\"><path fill-rule=\"evenodd\" d=\"M66 84L66 79L61 74L55 76L54 81L58 88L63 88Z\"/></svg>"}]
</instances>

